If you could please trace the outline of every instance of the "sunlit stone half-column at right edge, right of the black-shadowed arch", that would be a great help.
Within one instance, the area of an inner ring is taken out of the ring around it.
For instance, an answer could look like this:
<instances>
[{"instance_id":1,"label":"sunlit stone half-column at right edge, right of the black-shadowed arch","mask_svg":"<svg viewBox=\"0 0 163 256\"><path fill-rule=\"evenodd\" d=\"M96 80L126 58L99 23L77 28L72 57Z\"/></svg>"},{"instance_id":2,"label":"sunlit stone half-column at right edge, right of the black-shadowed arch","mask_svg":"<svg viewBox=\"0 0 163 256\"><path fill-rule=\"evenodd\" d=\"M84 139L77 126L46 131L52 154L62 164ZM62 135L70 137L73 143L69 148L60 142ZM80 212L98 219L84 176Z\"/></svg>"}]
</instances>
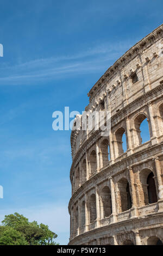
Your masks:
<instances>
[{"instance_id":1,"label":"sunlit stone half-column at right edge, right of the black-shadowed arch","mask_svg":"<svg viewBox=\"0 0 163 256\"><path fill-rule=\"evenodd\" d=\"M153 160L155 161L155 169L156 169L156 178L158 180L158 200L162 200L162 190L163 190L163 182L162 182L162 177L161 177L161 166L160 166L160 161L159 157L153 157Z\"/></svg>"}]
</instances>

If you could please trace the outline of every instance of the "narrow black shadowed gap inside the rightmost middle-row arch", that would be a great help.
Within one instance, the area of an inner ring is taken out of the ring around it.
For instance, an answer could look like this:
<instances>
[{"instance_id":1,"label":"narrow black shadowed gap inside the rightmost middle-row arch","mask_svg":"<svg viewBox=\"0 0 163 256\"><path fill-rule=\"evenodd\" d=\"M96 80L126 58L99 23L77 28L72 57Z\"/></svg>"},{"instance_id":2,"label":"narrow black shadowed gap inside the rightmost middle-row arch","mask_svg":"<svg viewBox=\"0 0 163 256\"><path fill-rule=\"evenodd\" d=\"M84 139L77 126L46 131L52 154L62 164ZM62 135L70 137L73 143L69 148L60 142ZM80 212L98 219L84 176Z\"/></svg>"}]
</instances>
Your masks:
<instances>
[{"instance_id":1,"label":"narrow black shadowed gap inside the rightmost middle-row arch","mask_svg":"<svg viewBox=\"0 0 163 256\"><path fill-rule=\"evenodd\" d=\"M148 178L147 178L147 189L148 189L148 200L149 200L149 204L153 204L153 203L156 203L158 202L158 197L157 197L157 194L156 194L156 187L155 187L155 181L154 181L154 174L153 172L151 172L149 175L148 175Z\"/></svg>"}]
</instances>

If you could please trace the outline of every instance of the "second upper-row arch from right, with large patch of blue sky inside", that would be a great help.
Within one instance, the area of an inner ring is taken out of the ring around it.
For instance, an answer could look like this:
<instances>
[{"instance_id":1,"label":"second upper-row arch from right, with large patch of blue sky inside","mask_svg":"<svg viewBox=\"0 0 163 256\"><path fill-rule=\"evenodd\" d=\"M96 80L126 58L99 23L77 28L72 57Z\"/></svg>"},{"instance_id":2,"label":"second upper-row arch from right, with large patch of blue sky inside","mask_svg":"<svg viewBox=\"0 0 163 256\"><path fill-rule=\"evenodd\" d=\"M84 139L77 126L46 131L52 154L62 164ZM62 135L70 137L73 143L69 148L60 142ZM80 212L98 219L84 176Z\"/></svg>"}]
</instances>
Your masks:
<instances>
[{"instance_id":1,"label":"second upper-row arch from right, with large patch of blue sky inside","mask_svg":"<svg viewBox=\"0 0 163 256\"><path fill-rule=\"evenodd\" d=\"M135 138L135 146L139 146L150 139L149 135L149 126L147 117L145 114L140 114L135 118L134 121L135 124L135 131L134 132L134 138Z\"/></svg>"}]
</instances>

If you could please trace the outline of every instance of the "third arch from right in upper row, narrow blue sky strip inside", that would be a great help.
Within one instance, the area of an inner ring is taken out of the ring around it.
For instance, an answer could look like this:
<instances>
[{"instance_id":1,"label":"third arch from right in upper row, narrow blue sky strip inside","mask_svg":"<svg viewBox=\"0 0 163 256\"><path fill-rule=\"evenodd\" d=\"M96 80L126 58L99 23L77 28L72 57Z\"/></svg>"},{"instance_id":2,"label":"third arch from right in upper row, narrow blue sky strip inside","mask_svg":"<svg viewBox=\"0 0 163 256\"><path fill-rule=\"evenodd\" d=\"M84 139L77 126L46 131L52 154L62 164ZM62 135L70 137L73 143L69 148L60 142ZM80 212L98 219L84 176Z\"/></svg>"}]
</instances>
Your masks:
<instances>
[{"instance_id":1,"label":"third arch from right in upper row, narrow blue sky strip inside","mask_svg":"<svg viewBox=\"0 0 163 256\"><path fill-rule=\"evenodd\" d=\"M122 141L122 137L123 137L123 141ZM116 157L118 157L122 155L127 149L126 134L123 127L121 127L116 131L115 138L116 138L115 154L116 154Z\"/></svg>"}]
</instances>

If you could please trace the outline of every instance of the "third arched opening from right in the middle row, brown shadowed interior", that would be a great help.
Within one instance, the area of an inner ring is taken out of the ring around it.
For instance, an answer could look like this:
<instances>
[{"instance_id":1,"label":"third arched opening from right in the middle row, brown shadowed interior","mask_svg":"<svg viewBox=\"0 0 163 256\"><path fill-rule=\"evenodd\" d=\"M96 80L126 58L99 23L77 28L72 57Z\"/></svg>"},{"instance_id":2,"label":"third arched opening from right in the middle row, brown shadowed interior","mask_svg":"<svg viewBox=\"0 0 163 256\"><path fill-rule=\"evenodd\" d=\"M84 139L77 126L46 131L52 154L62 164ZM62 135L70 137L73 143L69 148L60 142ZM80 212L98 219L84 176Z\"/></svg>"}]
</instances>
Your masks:
<instances>
[{"instance_id":1,"label":"third arched opening from right in the middle row, brown shadowed interior","mask_svg":"<svg viewBox=\"0 0 163 256\"><path fill-rule=\"evenodd\" d=\"M108 217L112 213L110 188L105 186L101 191L101 212L102 218Z\"/></svg>"}]
</instances>

